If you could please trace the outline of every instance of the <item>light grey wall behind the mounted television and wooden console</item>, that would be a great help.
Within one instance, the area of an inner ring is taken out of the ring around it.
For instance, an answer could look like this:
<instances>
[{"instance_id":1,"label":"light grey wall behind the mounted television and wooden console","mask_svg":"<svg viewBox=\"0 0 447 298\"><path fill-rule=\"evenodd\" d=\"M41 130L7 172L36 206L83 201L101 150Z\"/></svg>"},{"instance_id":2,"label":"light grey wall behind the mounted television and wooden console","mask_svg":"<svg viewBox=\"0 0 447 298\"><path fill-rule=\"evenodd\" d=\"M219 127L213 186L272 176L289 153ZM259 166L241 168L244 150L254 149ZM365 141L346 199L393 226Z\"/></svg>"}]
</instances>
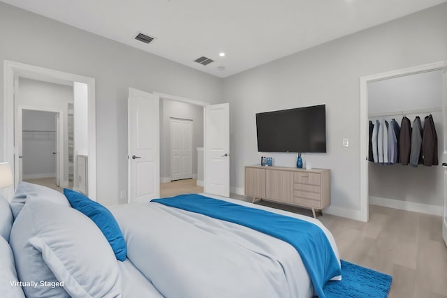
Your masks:
<instances>
[{"instance_id":1,"label":"light grey wall behind the mounted television and wooden console","mask_svg":"<svg viewBox=\"0 0 447 298\"><path fill-rule=\"evenodd\" d=\"M446 15L444 3L224 79L233 191L243 192L244 166L259 163L256 112L325 103L328 153L303 158L331 170L328 211L360 218L359 79L447 59ZM295 154L272 156L277 165L295 165Z\"/></svg>"}]
</instances>

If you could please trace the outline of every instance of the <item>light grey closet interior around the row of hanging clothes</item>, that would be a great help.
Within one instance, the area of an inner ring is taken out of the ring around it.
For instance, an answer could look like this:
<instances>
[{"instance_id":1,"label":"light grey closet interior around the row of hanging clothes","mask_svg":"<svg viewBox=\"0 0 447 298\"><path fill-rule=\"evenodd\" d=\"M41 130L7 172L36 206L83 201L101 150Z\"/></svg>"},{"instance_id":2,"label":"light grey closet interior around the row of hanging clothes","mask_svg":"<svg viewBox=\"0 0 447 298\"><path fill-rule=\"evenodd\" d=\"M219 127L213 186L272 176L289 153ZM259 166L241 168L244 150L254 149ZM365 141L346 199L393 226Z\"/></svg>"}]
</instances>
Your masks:
<instances>
[{"instance_id":1,"label":"light grey closet interior around the row of hanging clothes","mask_svg":"<svg viewBox=\"0 0 447 298\"><path fill-rule=\"evenodd\" d=\"M420 127L423 130L425 117L431 114L437 133L439 159L439 165L431 163L430 166L415 162L414 156L412 165L405 162L405 165L402 165L399 160L397 163L387 160L382 163L370 161L369 203L402 207L402 209L408 204L416 203L411 204L413 211L424 212L428 209L441 211L444 206L444 168L441 166L444 162L442 70L369 82L367 90L369 121L374 125L377 120L381 125L385 121L391 125L392 119L395 119L398 126L401 126L402 119L406 117L409 119L411 129L413 127L418 129L418 124L415 126L415 119L419 117ZM372 159L374 158L369 156L369 160Z\"/></svg>"}]
</instances>

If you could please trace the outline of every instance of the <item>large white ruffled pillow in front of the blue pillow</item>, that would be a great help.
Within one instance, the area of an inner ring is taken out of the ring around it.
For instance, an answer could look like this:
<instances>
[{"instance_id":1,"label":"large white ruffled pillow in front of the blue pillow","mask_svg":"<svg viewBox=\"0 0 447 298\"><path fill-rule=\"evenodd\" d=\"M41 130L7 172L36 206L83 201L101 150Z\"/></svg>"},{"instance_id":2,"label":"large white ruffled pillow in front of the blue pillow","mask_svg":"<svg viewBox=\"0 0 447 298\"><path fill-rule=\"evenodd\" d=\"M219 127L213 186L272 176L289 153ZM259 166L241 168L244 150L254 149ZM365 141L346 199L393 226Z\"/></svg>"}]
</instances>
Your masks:
<instances>
[{"instance_id":1,"label":"large white ruffled pillow in front of the blue pillow","mask_svg":"<svg viewBox=\"0 0 447 298\"><path fill-rule=\"evenodd\" d=\"M107 239L93 221L71 207L29 195L13 224L10 245L21 281L59 281L64 287L24 288L29 297L122 295L117 260Z\"/></svg>"}]
</instances>

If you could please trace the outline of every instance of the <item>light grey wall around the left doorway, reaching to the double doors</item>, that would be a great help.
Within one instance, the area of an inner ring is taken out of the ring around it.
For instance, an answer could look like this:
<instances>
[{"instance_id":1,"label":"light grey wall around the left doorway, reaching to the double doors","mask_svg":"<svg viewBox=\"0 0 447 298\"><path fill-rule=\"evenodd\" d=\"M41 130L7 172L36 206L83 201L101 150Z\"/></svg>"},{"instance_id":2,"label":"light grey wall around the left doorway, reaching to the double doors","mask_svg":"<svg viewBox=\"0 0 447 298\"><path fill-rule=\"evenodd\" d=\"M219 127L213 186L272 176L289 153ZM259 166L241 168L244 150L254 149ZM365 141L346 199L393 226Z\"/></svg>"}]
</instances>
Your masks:
<instances>
[{"instance_id":1,"label":"light grey wall around the left doorway, reaching to the double doors","mask_svg":"<svg viewBox=\"0 0 447 298\"><path fill-rule=\"evenodd\" d=\"M96 80L97 200L103 204L127 202L126 198L119 200L119 192L127 190L128 87L221 102L222 82L218 77L3 2L0 36L0 61L8 59ZM3 106L2 96L0 105Z\"/></svg>"}]
</instances>

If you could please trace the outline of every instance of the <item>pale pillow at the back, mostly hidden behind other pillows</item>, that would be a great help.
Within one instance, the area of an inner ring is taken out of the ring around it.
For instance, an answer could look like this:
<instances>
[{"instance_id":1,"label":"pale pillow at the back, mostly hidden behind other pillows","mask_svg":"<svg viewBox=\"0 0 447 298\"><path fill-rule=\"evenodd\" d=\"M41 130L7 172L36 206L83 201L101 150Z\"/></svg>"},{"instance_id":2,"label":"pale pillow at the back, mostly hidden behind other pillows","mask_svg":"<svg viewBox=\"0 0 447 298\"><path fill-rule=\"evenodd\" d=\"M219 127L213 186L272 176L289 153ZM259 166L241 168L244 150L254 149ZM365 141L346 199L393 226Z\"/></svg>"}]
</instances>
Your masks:
<instances>
[{"instance_id":1,"label":"pale pillow at the back, mostly hidden behind other pillows","mask_svg":"<svg viewBox=\"0 0 447 298\"><path fill-rule=\"evenodd\" d=\"M70 203L63 193L59 193L59 191L54 191L54 189L45 186L22 181L15 188L14 197L11 200L14 219L17 218L20 210L22 210L25 202L27 202L28 195L34 195L36 198L70 207Z\"/></svg>"}]
</instances>

